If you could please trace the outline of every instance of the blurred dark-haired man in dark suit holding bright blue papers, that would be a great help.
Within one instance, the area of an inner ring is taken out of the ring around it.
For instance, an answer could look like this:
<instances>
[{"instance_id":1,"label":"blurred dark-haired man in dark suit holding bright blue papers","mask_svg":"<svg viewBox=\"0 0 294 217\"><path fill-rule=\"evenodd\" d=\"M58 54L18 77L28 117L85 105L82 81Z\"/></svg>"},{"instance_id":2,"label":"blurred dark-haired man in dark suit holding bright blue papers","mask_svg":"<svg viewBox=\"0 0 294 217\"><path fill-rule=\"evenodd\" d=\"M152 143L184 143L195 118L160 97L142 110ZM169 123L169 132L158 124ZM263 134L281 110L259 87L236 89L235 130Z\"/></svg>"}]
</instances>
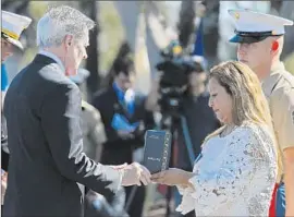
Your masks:
<instances>
[{"instance_id":1,"label":"blurred dark-haired man in dark suit holding bright blue papers","mask_svg":"<svg viewBox=\"0 0 294 217\"><path fill-rule=\"evenodd\" d=\"M149 96L143 97L135 93L132 88L133 80L133 61L128 57L119 57L113 63L113 82L94 96L93 105L101 113L107 134L102 164L133 161L134 152L144 145L146 129L154 128L152 113L146 110ZM137 160L143 160L143 157ZM125 191L126 202L131 204L127 213L131 217L142 216L145 188L125 188Z\"/></svg>"}]
</instances>

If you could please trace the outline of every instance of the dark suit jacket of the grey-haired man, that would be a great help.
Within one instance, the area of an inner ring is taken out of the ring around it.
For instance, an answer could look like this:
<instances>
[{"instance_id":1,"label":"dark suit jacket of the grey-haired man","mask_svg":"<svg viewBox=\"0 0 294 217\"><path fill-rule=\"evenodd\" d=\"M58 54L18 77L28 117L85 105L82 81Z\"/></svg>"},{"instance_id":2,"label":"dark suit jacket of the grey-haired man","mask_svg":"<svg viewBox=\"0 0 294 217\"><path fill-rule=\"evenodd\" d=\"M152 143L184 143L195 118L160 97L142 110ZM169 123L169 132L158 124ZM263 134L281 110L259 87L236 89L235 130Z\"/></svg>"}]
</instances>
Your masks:
<instances>
[{"instance_id":1,"label":"dark suit jacket of the grey-haired man","mask_svg":"<svg viewBox=\"0 0 294 217\"><path fill-rule=\"evenodd\" d=\"M83 153L78 87L54 60L37 55L8 89L10 149L3 216L81 216L77 183L106 196L121 184L115 169Z\"/></svg>"}]
</instances>

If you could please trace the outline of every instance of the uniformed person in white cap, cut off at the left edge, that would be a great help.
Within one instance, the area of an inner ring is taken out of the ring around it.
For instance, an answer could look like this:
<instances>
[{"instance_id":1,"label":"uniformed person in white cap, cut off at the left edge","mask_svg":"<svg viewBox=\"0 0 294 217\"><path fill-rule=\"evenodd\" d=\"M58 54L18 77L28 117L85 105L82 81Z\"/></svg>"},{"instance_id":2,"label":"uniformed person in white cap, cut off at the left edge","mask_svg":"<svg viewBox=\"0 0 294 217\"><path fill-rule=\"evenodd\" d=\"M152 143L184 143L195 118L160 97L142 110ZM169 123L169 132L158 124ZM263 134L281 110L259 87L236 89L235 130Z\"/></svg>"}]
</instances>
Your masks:
<instances>
[{"instance_id":1,"label":"uniformed person in white cap, cut off at the left edge","mask_svg":"<svg viewBox=\"0 0 294 217\"><path fill-rule=\"evenodd\" d=\"M3 116L3 103L5 92L9 86L8 72L5 69L5 60L13 55L16 49L23 50L23 45L20 41L22 32L28 27L32 19L8 11L1 11L1 205L4 201L7 190L7 172L9 164L8 149L8 131L7 122ZM2 209L1 209L2 210Z\"/></svg>"}]
</instances>

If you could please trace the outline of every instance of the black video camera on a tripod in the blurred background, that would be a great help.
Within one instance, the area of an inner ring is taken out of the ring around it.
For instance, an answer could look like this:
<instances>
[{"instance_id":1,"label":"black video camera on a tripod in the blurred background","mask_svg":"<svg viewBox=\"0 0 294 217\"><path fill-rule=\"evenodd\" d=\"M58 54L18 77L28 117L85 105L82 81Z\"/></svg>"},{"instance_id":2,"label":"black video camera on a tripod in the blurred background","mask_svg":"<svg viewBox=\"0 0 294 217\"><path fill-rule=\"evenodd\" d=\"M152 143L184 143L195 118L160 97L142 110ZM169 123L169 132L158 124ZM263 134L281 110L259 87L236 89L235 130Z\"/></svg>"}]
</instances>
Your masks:
<instances>
[{"instance_id":1,"label":"black video camera on a tripod in the blurred background","mask_svg":"<svg viewBox=\"0 0 294 217\"><path fill-rule=\"evenodd\" d=\"M200 64L183 52L177 41L172 41L161 51L161 56L163 61L156 65L157 70L162 72L159 106L164 114L179 117L183 96L188 87L189 73L203 70L199 69Z\"/></svg>"}]
</instances>

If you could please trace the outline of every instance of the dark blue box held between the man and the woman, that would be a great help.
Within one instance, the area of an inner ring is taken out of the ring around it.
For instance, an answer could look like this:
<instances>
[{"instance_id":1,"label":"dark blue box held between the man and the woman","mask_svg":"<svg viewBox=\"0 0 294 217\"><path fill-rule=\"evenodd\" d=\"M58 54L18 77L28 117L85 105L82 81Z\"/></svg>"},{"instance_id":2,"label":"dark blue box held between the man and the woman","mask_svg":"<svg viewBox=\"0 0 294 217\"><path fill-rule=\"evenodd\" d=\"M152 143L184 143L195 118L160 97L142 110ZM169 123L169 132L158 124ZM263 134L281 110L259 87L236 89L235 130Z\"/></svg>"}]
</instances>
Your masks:
<instances>
[{"instance_id":1,"label":"dark blue box held between the man and the woman","mask_svg":"<svg viewBox=\"0 0 294 217\"><path fill-rule=\"evenodd\" d=\"M169 169L171 142L168 131L146 131L143 165L151 174Z\"/></svg>"}]
</instances>

